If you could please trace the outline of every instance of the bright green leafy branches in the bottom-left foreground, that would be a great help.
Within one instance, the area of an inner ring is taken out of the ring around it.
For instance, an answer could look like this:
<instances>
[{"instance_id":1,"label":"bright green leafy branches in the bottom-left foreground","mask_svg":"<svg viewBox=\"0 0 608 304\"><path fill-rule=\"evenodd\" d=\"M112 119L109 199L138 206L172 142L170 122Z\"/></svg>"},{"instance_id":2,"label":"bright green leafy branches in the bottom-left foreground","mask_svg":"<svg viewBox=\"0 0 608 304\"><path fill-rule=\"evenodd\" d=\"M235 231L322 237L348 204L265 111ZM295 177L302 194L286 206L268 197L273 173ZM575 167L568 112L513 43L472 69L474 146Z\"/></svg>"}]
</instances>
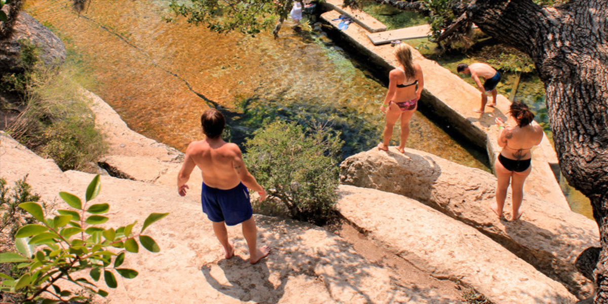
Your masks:
<instances>
[{"instance_id":1,"label":"bright green leafy branches in the bottom-left foreground","mask_svg":"<svg viewBox=\"0 0 608 304\"><path fill-rule=\"evenodd\" d=\"M38 222L23 226L16 232L18 252L0 254L0 263L19 263L18 268L23 270L19 276L0 274L0 291L22 295L25 298L23 303L37 303L45 297L48 303L50 299L59 302L79 301L87 300L87 297L61 289L58 282L68 281L105 297L108 292L94 283L100 280L102 271L103 280L109 288L117 287L115 272L124 278L137 276L134 269L120 268L125 260L125 252L121 249L126 249L126 243L137 245L137 239L151 252L159 252L159 246L153 238L141 234L143 229L140 233L134 233L137 221L117 229L97 226L109 219L108 216L98 215L107 213L109 205L87 205L97 196L100 187L97 175L89 184L84 204L77 196L61 192L61 198L75 210L57 210L58 214L45 215L43 208L36 202L19 204ZM167 214L151 213L145 219L145 227ZM117 251L119 252L116 253ZM93 282L84 277L73 277L75 272L87 270Z\"/></svg>"}]
</instances>

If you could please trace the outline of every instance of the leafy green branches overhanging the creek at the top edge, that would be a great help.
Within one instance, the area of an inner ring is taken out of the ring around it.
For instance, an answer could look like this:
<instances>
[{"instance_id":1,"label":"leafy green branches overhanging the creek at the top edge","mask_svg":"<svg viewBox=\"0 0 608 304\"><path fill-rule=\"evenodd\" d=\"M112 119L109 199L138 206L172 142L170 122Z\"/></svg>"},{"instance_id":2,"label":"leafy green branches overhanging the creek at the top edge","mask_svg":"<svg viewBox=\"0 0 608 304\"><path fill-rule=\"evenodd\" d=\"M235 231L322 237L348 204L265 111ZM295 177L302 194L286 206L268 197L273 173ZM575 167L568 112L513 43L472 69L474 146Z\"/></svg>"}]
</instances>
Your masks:
<instances>
[{"instance_id":1,"label":"leafy green branches overhanging the creek at the top edge","mask_svg":"<svg viewBox=\"0 0 608 304\"><path fill-rule=\"evenodd\" d=\"M173 13L186 17L188 22L206 24L216 32L238 30L255 35L274 26L277 16L285 18L292 3L292 0L190 0L190 4L182 4L171 0L169 6Z\"/></svg>"}]
</instances>

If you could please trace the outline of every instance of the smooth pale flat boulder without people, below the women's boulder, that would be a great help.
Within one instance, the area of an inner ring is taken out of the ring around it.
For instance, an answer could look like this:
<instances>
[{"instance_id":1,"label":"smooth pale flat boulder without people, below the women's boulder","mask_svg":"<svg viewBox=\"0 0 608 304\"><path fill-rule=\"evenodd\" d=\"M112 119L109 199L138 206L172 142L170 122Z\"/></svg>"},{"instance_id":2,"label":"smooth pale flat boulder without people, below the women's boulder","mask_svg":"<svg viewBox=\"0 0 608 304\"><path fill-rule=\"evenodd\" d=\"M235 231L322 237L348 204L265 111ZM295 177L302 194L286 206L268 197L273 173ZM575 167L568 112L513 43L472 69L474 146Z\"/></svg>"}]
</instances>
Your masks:
<instances>
[{"instance_id":1,"label":"smooth pale flat boulder without people, below the women's boulder","mask_svg":"<svg viewBox=\"0 0 608 304\"><path fill-rule=\"evenodd\" d=\"M340 185L339 212L368 237L435 277L471 286L492 303L572 303L576 298L471 226L393 193Z\"/></svg>"}]
</instances>

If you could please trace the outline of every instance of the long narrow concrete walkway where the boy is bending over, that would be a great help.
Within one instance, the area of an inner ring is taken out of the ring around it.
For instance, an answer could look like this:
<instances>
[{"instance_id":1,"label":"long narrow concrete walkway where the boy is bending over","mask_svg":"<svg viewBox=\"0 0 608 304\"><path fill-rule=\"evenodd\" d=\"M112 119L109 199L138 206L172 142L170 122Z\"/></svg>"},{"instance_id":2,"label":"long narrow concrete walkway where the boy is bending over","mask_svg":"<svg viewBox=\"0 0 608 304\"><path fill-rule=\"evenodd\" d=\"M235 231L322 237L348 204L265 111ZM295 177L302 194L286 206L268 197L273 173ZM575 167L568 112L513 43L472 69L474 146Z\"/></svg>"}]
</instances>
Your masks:
<instances>
[{"instance_id":1,"label":"long narrow concrete walkway where the boy is bending over","mask_svg":"<svg viewBox=\"0 0 608 304\"><path fill-rule=\"evenodd\" d=\"M339 13L334 11L321 15L326 22L334 26L337 23L331 19L335 19L337 16ZM344 38L356 48L355 52L367 56L372 63L385 69L386 75L398 64L393 55L393 47L389 44L375 46L367 37L370 32L357 24L351 24L348 29L341 32ZM437 62L427 60L418 50L412 49L412 51L414 60L420 64L424 72L424 91L420 108L429 109L435 115L442 117L447 125L479 147L486 147L493 169L496 157L501 150L497 144L499 129L495 119L501 117L507 123L515 125L514 120L510 116L506 116L511 102L503 95L499 95L496 108L486 107L485 114L475 113L474 109L479 107L481 100L481 93L478 89L469 85L452 71L441 67ZM525 191L570 210L564 193L551 170L550 164L558 164L558 159L547 136L532 153L532 173L525 184Z\"/></svg>"}]
</instances>

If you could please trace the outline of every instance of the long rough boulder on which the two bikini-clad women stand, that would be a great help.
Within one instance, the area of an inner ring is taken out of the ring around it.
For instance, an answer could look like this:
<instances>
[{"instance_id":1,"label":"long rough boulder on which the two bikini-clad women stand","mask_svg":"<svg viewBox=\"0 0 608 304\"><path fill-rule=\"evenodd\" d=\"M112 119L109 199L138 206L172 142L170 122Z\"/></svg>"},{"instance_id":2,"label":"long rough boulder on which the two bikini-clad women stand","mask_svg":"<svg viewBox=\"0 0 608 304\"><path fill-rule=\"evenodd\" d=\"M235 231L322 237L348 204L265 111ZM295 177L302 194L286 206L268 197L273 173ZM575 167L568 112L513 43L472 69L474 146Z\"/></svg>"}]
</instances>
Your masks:
<instances>
[{"instance_id":1,"label":"long rough boulder on which the two bikini-clad women stand","mask_svg":"<svg viewBox=\"0 0 608 304\"><path fill-rule=\"evenodd\" d=\"M422 151L373 149L348 157L340 181L404 195L433 207L488 235L579 297L592 283L574 267L582 250L598 246L594 221L526 193L519 221L500 221L489 209L496 200L496 178ZM511 196L505 206L510 216Z\"/></svg>"}]
</instances>

